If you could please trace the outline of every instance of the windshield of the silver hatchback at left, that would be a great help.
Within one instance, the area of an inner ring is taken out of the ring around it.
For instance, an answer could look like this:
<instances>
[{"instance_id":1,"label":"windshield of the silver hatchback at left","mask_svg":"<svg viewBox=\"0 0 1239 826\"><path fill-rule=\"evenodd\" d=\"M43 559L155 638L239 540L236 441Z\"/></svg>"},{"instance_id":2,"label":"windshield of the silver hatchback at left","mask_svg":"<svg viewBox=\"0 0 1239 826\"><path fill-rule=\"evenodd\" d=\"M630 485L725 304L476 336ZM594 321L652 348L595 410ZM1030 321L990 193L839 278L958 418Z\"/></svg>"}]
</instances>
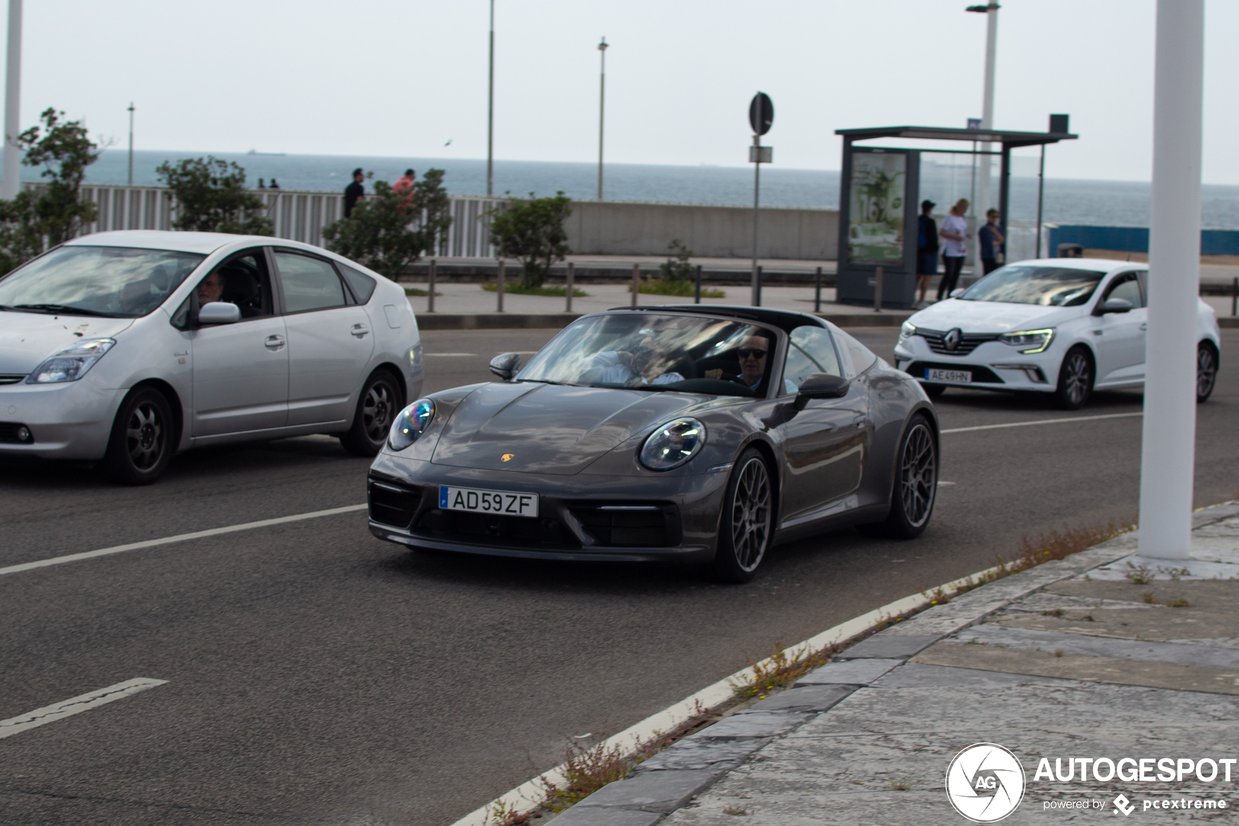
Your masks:
<instances>
[{"instance_id":1,"label":"windshield of the silver hatchback at left","mask_svg":"<svg viewBox=\"0 0 1239 826\"><path fill-rule=\"evenodd\" d=\"M138 318L164 303L204 258L128 246L61 246L0 279L0 307Z\"/></svg>"}]
</instances>

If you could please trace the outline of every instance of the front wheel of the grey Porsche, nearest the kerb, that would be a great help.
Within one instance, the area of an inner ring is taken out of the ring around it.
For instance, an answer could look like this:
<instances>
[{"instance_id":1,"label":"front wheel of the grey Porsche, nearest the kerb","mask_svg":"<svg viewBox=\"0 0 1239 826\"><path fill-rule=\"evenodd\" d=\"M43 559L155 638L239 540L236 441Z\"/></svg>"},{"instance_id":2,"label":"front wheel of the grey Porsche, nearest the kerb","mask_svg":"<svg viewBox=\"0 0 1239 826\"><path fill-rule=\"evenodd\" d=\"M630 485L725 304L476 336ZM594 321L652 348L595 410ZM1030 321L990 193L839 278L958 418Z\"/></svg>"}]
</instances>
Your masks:
<instances>
[{"instance_id":1,"label":"front wheel of the grey Porsche, nearest the kerb","mask_svg":"<svg viewBox=\"0 0 1239 826\"><path fill-rule=\"evenodd\" d=\"M719 514L710 578L741 585L757 573L774 535L774 487L766 457L750 447L736 459Z\"/></svg>"}]
</instances>

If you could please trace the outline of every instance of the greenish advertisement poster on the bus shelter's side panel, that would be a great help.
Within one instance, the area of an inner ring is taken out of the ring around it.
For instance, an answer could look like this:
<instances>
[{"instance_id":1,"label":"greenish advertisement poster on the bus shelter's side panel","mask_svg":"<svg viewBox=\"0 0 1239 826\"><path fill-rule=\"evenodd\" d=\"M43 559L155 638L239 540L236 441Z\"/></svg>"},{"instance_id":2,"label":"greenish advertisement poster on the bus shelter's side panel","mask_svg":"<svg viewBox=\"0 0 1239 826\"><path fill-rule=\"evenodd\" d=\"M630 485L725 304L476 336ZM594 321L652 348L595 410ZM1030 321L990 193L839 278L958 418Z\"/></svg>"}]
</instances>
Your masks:
<instances>
[{"instance_id":1,"label":"greenish advertisement poster on the bus shelter's side panel","mask_svg":"<svg viewBox=\"0 0 1239 826\"><path fill-rule=\"evenodd\" d=\"M903 260L903 197L908 159L903 154L851 156L847 255L854 264Z\"/></svg>"}]
</instances>

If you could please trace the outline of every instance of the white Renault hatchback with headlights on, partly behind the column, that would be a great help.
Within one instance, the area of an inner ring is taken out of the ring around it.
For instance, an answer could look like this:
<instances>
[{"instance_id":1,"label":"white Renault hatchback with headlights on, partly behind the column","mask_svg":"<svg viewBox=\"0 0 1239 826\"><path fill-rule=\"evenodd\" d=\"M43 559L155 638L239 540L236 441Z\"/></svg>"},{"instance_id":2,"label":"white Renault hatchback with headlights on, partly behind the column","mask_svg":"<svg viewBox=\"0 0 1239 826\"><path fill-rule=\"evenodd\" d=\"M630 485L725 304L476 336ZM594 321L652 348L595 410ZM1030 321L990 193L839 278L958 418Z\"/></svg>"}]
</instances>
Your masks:
<instances>
[{"instance_id":1,"label":"white Renault hatchback with headlights on, partly behind the column","mask_svg":"<svg viewBox=\"0 0 1239 826\"><path fill-rule=\"evenodd\" d=\"M994 270L903 323L898 368L937 396L948 386L1054 394L1077 410L1094 389L1145 380L1145 264L1038 259ZM1213 393L1219 334L1197 306L1197 401Z\"/></svg>"}]
</instances>

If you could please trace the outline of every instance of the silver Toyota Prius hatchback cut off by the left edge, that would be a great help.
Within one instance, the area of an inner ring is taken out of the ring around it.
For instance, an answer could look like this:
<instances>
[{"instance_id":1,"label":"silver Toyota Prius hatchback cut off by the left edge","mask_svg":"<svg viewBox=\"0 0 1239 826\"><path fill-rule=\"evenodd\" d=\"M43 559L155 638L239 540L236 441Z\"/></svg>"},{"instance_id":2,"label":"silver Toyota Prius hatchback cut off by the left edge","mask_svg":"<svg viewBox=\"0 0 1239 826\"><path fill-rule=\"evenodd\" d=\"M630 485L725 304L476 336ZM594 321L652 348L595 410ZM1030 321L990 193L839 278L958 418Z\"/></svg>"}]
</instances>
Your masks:
<instances>
[{"instance_id":1,"label":"silver Toyota Prius hatchback cut off by the left edge","mask_svg":"<svg viewBox=\"0 0 1239 826\"><path fill-rule=\"evenodd\" d=\"M177 451L331 433L374 456L421 394L404 290L254 235L84 235L0 279L0 454L154 482Z\"/></svg>"}]
</instances>

